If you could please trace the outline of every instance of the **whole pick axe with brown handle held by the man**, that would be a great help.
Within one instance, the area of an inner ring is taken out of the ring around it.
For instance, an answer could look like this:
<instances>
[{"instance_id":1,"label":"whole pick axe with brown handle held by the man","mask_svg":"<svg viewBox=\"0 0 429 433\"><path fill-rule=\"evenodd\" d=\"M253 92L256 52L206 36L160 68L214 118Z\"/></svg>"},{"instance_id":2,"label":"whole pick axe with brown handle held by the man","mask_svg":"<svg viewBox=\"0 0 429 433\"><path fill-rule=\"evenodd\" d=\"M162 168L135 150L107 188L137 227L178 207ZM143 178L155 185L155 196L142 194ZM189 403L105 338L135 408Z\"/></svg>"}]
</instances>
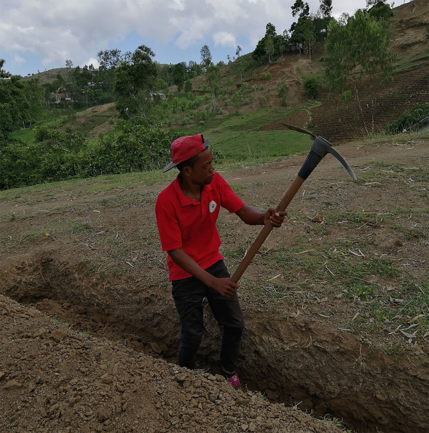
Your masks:
<instances>
[{"instance_id":1,"label":"whole pick axe with brown handle held by the man","mask_svg":"<svg viewBox=\"0 0 429 433\"><path fill-rule=\"evenodd\" d=\"M306 129L299 128L298 126L289 125L288 123L284 122L280 123L289 129L293 129L297 132L303 132L304 134L312 136L313 145L311 146L310 153L307 155L307 158L304 161L304 164L302 165L300 171L298 172L297 177L293 181L292 185L290 185L289 189L286 191L286 194L284 194L281 202L276 207L278 211L282 212L287 208L291 200L294 198L295 194L297 194L298 190L300 189L300 186L303 184L306 178L310 176L311 172L316 168L317 164L319 164L319 162L322 161L323 157L326 156L326 154L328 153L334 155L335 158L337 158L339 162L341 162L341 164L344 166L344 168L348 171L348 174L352 176L352 179L354 181L356 180L356 175L355 173L353 173L353 170L350 168L347 162L345 162L345 159L331 146L328 140L324 139L323 137L317 137L312 132L306 131ZM234 275L232 275L232 281L234 281L235 283L239 281L241 276L244 274L244 271L248 267L249 263L252 262L255 254L259 251L272 229L273 225L268 221L268 223L265 224L264 228L261 230L261 233L259 233L258 237L255 239L255 242L253 242L247 254L242 259L239 267L234 272Z\"/></svg>"}]
</instances>

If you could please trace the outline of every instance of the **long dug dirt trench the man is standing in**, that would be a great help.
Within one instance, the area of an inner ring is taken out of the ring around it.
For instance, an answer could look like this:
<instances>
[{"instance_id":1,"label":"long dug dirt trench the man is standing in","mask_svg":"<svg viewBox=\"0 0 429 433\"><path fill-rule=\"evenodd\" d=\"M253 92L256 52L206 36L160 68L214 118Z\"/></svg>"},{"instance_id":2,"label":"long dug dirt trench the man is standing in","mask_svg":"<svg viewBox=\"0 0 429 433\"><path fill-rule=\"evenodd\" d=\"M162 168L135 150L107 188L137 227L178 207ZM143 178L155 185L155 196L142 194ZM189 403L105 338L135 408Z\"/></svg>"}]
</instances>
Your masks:
<instances>
[{"instance_id":1,"label":"long dug dirt trench the man is standing in","mask_svg":"<svg viewBox=\"0 0 429 433\"><path fill-rule=\"evenodd\" d=\"M122 332L135 349L148 347L175 358L180 326L168 288L144 287L142 280L96 281L47 252L3 269L0 293L36 308L55 300L58 317L68 310L69 318L84 317L81 327L98 323L101 335L109 329L116 336ZM315 416L343 419L357 431L428 430L426 367L412 371L347 331L323 329L300 317L267 320L244 314L239 371L249 389L313 410ZM216 368L220 328L208 307L205 326L199 366Z\"/></svg>"}]
</instances>

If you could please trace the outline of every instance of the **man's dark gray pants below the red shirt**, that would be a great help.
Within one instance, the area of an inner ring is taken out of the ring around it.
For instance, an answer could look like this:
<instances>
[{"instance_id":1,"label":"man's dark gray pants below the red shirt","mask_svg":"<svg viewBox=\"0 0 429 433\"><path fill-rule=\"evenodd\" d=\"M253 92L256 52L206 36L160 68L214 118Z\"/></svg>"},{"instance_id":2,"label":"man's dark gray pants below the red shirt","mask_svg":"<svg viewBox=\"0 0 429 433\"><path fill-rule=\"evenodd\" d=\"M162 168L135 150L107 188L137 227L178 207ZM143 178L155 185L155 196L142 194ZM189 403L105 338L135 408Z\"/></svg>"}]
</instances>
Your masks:
<instances>
[{"instance_id":1,"label":"man's dark gray pants below the red shirt","mask_svg":"<svg viewBox=\"0 0 429 433\"><path fill-rule=\"evenodd\" d=\"M230 277L223 260L219 260L206 271L217 278ZM181 323L179 365L190 369L195 368L197 350L204 332L202 301L203 297L207 297L213 316L219 325L223 326L221 369L226 375L234 375L244 329L243 313L237 294L229 299L223 297L195 277L174 280L172 285L174 303Z\"/></svg>"}]
</instances>

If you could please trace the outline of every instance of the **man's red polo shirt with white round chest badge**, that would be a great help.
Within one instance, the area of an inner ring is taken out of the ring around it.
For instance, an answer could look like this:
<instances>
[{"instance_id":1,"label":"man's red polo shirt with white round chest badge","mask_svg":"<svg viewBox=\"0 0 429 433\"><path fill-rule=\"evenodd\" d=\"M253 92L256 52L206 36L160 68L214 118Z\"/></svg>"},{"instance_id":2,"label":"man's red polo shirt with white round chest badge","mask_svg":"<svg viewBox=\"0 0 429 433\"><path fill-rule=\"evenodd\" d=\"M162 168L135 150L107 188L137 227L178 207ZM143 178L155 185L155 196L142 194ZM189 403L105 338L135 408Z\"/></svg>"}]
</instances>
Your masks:
<instances>
[{"instance_id":1,"label":"man's red polo shirt with white round chest badge","mask_svg":"<svg viewBox=\"0 0 429 433\"><path fill-rule=\"evenodd\" d=\"M182 247L201 268L206 269L223 260L219 254L220 238L216 220L220 207L231 213L244 203L223 177L215 172L210 185L203 185L201 202L186 197L179 185L179 176L158 195L155 205L161 247L164 251ZM168 255L170 281L191 275L176 265Z\"/></svg>"}]
</instances>

